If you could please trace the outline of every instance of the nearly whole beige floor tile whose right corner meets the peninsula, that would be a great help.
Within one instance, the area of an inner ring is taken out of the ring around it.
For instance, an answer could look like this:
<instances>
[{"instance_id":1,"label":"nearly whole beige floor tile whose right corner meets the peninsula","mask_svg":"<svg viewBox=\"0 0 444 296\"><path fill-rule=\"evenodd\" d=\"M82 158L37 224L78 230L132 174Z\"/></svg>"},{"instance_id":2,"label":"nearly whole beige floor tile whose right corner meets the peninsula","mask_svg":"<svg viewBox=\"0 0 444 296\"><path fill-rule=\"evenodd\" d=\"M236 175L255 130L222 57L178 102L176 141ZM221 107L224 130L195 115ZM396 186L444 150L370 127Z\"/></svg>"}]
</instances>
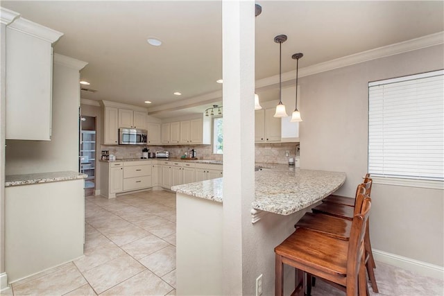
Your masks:
<instances>
[{"instance_id":1,"label":"nearly whole beige floor tile whose right corner meets the peninsula","mask_svg":"<svg viewBox=\"0 0 444 296\"><path fill-rule=\"evenodd\" d=\"M163 277L176 269L176 247L169 246L139 260L158 277Z\"/></svg>"}]
</instances>

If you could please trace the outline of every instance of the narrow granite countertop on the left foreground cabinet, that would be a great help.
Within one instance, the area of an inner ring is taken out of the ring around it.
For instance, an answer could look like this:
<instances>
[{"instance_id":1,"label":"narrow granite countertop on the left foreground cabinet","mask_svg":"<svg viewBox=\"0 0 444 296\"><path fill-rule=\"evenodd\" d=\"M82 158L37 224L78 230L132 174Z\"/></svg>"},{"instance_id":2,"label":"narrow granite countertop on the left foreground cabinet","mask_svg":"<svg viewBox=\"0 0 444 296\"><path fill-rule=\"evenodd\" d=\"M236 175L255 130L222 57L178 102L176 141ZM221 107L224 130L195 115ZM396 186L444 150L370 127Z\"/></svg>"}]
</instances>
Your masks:
<instances>
[{"instance_id":1,"label":"narrow granite countertop on the left foreground cabinet","mask_svg":"<svg viewBox=\"0 0 444 296\"><path fill-rule=\"evenodd\" d=\"M85 177L87 177L87 175L74 171L33 173L33 174L24 174L24 175L6 175L5 187L78 180L78 179L85 179Z\"/></svg>"}]
</instances>

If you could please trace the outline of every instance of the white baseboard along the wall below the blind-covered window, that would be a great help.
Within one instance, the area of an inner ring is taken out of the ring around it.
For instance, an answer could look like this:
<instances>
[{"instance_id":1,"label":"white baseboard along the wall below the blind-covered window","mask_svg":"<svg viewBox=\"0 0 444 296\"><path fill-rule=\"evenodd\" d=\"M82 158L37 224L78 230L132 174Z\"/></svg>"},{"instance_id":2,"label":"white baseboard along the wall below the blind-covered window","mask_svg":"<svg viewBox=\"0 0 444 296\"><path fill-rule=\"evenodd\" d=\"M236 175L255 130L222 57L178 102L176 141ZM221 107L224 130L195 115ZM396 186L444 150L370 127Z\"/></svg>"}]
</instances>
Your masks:
<instances>
[{"instance_id":1,"label":"white baseboard along the wall below the blind-covered window","mask_svg":"<svg viewBox=\"0 0 444 296\"><path fill-rule=\"evenodd\" d=\"M405 270L416 272L426 277L434 277L435 279L444 279L444 267L430 264L424 261L419 261L397 254L384 252L373 249L373 256L376 261L387 263Z\"/></svg>"}]
</instances>

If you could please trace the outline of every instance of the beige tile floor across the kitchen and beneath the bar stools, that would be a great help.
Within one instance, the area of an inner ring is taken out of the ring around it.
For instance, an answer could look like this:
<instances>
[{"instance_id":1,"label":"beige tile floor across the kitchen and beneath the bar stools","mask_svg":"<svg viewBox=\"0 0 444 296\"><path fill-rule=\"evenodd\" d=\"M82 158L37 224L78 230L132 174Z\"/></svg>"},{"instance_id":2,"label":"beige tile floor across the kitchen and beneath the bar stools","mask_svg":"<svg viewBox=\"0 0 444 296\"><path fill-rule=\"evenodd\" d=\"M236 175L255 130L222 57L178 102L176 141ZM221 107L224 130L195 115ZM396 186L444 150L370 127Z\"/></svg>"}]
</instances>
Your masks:
<instances>
[{"instance_id":1,"label":"beige tile floor across the kitchen and beneath the bar stools","mask_svg":"<svg viewBox=\"0 0 444 296\"><path fill-rule=\"evenodd\" d=\"M379 295L444 295L444 281L377 262ZM85 198L85 256L17 281L3 295L176 295L176 194ZM312 296L344 295L318 281ZM373 293L370 288L370 295Z\"/></svg>"}]
</instances>

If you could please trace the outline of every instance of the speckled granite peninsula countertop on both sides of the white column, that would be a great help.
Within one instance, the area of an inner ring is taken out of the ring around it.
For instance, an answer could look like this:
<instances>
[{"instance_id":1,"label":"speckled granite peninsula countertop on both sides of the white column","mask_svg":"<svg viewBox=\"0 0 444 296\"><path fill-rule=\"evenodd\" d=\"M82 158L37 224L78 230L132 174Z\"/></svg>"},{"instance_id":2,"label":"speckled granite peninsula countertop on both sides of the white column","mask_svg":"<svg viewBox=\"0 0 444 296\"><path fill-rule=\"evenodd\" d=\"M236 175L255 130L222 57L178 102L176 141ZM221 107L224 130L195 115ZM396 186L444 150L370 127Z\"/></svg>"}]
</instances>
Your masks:
<instances>
[{"instance_id":1,"label":"speckled granite peninsula countertop on both sides of the white column","mask_svg":"<svg viewBox=\"0 0 444 296\"><path fill-rule=\"evenodd\" d=\"M293 214L330 195L345 182L345 173L301 170L285 164L264 164L255 172L253 209ZM223 178L173 186L178 193L223 202Z\"/></svg>"}]
</instances>

